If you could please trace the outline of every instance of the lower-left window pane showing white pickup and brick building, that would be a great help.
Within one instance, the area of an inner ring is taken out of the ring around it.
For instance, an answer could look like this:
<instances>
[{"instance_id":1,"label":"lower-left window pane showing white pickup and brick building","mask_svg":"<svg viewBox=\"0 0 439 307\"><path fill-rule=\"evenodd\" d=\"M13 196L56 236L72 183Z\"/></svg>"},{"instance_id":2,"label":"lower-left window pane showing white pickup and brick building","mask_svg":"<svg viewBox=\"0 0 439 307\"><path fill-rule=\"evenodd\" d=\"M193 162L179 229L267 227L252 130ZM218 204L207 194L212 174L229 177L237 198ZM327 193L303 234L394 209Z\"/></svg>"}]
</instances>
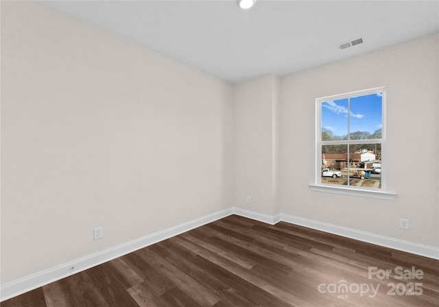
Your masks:
<instances>
[{"instance_id":1,"label":"lower-left window pane showing white pickup and brick building","mask_svg":"<svg viewBox=\"0 0 439 307\"><path fill-rule=\"evenodd\" d=\"M347 145L322 145L322 184L348 184L347 152Z\"/></svg>"}]
</instances>

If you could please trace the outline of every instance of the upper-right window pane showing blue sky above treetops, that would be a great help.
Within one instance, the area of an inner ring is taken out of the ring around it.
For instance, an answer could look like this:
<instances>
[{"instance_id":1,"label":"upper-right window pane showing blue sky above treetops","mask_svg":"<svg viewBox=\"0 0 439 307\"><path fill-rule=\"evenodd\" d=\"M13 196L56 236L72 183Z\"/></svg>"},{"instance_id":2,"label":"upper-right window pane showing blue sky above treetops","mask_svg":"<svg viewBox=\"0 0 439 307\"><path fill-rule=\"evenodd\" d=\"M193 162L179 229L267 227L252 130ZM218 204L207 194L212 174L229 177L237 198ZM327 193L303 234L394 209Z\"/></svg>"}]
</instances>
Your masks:
<instances>
[{"instance_id":1,"label":"upper-right window pane showing blue sky above treetops","mask_svg":"<svg viewBox=\"0 0 439 307\"><path fill-rule=\"evenodd\" d=\"M351 140L381 138L383 127L382 93L352 97L350 103Z\"/></svg>"}]
</instances>

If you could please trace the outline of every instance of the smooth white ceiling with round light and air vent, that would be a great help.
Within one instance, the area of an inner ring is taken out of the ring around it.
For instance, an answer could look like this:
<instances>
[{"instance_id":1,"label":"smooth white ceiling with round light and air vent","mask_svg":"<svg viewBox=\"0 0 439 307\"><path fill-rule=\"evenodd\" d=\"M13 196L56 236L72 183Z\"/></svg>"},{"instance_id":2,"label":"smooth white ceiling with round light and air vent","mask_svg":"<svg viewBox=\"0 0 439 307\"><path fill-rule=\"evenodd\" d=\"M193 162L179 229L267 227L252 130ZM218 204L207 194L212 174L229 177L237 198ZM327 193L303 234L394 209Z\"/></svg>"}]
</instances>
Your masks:
<instances>
[{"instance_id":1,"label":"smooth white ceiling with round light and air vent","mask_svg":"<svg viewBox=\"0 0 439 307\"><path fill-rule=\"evenodd\" d=\"M439 1L40 1L228 82L288 75L439 32ZM362 38L363 43L339 49Z\"/></svg>"}]
</instances>

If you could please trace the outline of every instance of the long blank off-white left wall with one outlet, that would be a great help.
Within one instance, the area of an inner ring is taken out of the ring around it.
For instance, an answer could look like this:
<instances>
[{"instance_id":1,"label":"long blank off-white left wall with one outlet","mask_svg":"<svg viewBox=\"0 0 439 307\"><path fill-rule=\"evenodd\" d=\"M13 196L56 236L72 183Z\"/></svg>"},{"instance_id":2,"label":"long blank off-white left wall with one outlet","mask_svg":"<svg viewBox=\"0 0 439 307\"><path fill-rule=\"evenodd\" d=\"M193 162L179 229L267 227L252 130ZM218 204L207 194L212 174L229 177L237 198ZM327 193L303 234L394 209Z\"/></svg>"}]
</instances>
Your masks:
<instances>
[{"instance_id":1,"label":"long blank off-white left wall with one outlet","mask_svg":"<svg viewBox=\"0 0 439 307\"><path fill-rule=\"evenodd\" d=\"M231 84L2 1L1 284L230 208L232 130Z\"/></svg>"}]
</instances>

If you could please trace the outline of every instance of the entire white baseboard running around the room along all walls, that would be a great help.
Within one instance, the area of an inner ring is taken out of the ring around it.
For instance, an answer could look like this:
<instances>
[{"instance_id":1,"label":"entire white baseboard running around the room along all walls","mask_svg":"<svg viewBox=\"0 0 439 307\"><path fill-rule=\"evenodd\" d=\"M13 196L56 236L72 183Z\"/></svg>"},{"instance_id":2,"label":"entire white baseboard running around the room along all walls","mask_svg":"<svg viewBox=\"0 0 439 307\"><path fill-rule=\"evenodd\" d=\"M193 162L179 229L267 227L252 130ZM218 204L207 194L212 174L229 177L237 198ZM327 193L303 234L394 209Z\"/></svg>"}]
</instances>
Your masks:
<instances>
[{"instance_id":1,"label":"entire white baseboard running around the room along all walls","mask_svg":"<svg viewBox=\"0 0 439 307\"><path fill-rule=\"evenodd\" d=\"M155 234L150 234L149 236L144 236L143 238L139 238L123 245L106 249L105 251L101 251L97 254L86 256L73 262L47 269L40 273L21 278L20 280L15 280L14 282L4 284L0 287L0 302L26 293L27 291L32 291L35 288L44 286L45 284L55 282L56 280L65 278L69 275L72 275L73 273L78 273L80 271L90 269L91 267L95 267L96 265L100 265L109 260L129 254L132 251L136 251L137 249L147 247L154 243L163 241L167 238L171 238L172 236L176 236L178 234L182 234L183 232L198 228L202 225L205 225L206 223L211 223L218 219L228 217L231 214L237 214L241 217L248 217L249 219L261 221L263 223L269 223L271 225L274 225L279 221L285 221L287 223L292 223L307 228L313 228L316 230L322 230L324 232L337 234L339 236L345 236L347 238L353 238L358 241L381 245L383 247L390 247L392 249L407 251L412 254L439 260L439 248L437 247L420 245L417 243L402 241L396 238L389 238L386 236L379 236L377 234L371 234L369 232L361 232L359 230L353 230L351 228L344 228L341 226L322 223L319 221L303 219L283 213L268 215L232 207L226 210L222 210L220 212L206 215L205 217L200 217L199 219L195 219L187 223L182 223L180 225L177 225L176 227L169 228L161 232L156 232Z\"/></svg>"}]
</instances>

